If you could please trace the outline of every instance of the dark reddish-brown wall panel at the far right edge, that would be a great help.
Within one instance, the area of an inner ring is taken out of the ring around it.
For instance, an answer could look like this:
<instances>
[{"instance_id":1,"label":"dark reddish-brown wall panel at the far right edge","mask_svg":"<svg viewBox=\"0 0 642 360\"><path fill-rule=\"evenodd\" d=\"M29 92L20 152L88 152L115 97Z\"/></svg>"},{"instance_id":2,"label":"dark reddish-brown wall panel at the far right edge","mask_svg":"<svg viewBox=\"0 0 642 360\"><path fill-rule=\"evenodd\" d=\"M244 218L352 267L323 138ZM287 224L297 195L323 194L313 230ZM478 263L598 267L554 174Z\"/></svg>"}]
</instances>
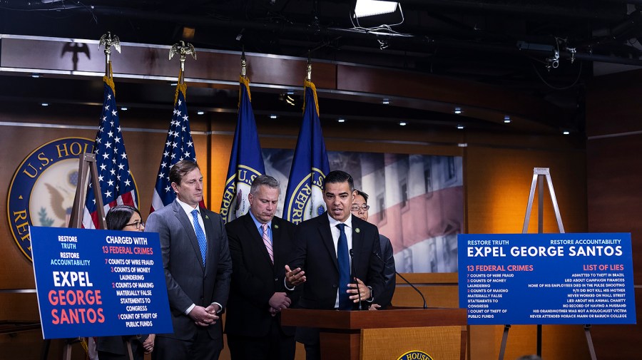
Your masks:
<instances>
[{"instance_id":1,"label":"dark reddish-brown wall panel at the far right edge","mask_svg":"<svg viewBox=\"0 0 642 360\"><path fill-rule=\"evenodd\" d=\"M633 359L642 339L641 71L595 78L586 99L588 230L631 232L638 325L596 326L599 359Z\"/></svg>"}]
</instances>

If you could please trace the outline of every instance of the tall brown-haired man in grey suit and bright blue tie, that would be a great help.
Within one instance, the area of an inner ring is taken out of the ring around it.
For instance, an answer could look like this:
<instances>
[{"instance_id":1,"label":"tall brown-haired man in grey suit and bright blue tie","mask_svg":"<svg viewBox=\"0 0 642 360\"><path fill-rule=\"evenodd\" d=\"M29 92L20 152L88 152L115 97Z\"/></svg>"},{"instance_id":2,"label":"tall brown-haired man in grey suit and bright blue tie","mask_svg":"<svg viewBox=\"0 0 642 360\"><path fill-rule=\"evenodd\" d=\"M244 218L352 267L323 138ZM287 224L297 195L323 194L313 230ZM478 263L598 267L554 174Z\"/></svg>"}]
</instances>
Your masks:
<instances>
[{"instance_id":1,"label":"tall brown-haired man in grey suit and bright blue tie","mask_svg":"<svg viewBox=\"0 0 642 360\"><path fill-rule=\"evenodd\" d=\"M199 208L203 175L196 163L172 166L176 200L148 217L158 232L173 334L157 334L155 360L215 360L223 349L220 314L230 290L232 259L223 219Z\"/></svg>"}]
</instances>

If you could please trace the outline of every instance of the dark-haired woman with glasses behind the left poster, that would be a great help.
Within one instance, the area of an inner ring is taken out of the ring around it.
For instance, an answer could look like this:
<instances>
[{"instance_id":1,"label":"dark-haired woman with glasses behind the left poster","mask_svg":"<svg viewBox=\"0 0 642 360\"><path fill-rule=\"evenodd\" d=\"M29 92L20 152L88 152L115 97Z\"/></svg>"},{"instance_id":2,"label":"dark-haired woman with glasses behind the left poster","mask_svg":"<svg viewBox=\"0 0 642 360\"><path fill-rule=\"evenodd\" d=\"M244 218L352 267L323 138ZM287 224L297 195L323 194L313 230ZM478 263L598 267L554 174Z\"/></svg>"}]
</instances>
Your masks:
<instances>
[{"instance_id":1,"label":"dark-haired woman with glasses behind the left poster","mask_svg":"<svg viewBox=\"0 0 642 360\"><path fill-rule=\"evenodd\" d=\"M145 222L136 207L117 205L109 209L105 217L107 230L143 231ZM154 349L154 334L137 335L130 341L134 360L143 360ZM96 340L98 360L128 360L127 346L130 336L103 336Z\"/></svg>"}]
</instances>

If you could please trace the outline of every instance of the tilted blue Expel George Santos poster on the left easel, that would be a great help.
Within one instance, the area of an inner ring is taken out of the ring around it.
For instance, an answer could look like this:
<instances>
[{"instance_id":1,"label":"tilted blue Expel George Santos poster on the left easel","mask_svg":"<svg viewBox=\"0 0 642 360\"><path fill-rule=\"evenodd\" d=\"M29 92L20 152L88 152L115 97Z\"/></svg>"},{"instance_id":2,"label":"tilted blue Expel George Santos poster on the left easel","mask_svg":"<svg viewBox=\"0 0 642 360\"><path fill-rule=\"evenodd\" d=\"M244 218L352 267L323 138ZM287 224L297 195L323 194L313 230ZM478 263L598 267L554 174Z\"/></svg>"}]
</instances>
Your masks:
<instances>
[{"instance_id":1,"label":"tilted blue Expel George Santos poster on the left easel","mask_svg":"<svg viewBox=\"0 0 642 360\"><path fill-rule=\"evenodd\" d=\"M172 333L154 232L31 227L44 339Z\"/></svg>"}]
</instances>

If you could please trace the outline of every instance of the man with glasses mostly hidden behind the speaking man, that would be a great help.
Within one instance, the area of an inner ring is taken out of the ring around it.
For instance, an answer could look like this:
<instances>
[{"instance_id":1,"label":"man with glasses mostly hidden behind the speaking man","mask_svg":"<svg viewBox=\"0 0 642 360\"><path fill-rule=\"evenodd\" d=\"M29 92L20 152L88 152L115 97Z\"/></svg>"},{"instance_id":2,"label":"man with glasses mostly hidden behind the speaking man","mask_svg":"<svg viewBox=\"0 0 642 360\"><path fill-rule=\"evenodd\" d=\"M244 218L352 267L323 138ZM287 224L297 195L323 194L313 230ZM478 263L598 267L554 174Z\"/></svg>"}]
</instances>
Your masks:
<instances>
[{"instance_id":1,"label":"man with glasses mostly hidden behind the speaking man","mask_svg":"<svg viewBox=\"0 0 642 360\"><path fill-rule=\"evenodd\" d=\"M361 190L355 190L357 196L355 202L352 202L352 215L359 217L362 220L368 221L368 195ZM382 275L384 277L383 292L377 296L377 301L370 305L369 310L385 309L392 305L392 295L394 295L394 287L397 282L394 269L394 252L392 251L392 244L390 239L384 235L379 234L379 242L381 245L381 252L379 255L384 261L384 270Z\"/></svg>"}]
</instances>

